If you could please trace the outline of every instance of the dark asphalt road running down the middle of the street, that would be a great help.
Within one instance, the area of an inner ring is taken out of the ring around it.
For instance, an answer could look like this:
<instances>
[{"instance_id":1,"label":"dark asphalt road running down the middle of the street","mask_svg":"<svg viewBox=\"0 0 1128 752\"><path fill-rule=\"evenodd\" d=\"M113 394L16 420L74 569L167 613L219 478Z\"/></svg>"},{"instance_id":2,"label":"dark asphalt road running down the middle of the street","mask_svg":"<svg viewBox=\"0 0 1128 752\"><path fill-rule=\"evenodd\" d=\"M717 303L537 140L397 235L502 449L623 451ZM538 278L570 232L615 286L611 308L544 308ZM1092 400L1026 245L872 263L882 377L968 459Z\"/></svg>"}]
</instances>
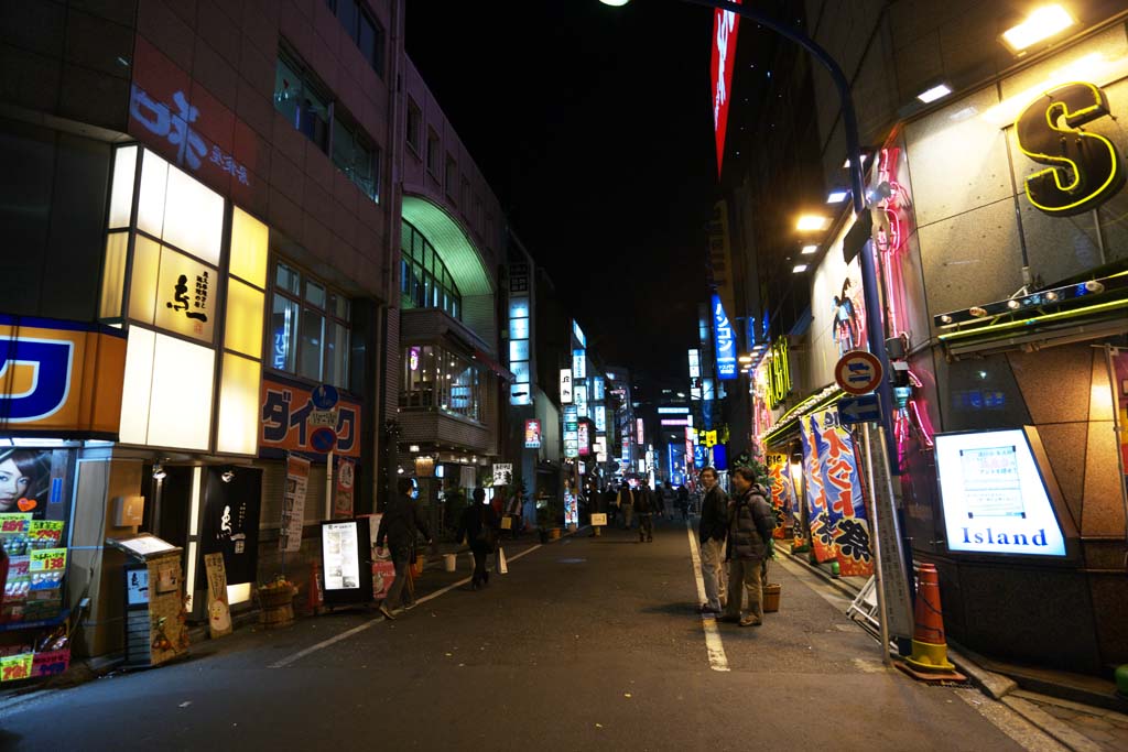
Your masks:
<instances>
[{"instance_id":1,"label":"dark asphalt road running down the middle of the street","mask_svg":"<svg viewBox=\"0 0 1128 752\"><path fill-rule=\"evenodd\" d=\"M635 541L581 533L394 622L245 629L176 665L44 692L0 710L0 749L1023 749L977 692L883 667L794 564L774 568L782 609L764 627L719 626L729 671L712 669L685 527ZM466 565L424 580L443 587Z\"/></svg>"}]
</instances>

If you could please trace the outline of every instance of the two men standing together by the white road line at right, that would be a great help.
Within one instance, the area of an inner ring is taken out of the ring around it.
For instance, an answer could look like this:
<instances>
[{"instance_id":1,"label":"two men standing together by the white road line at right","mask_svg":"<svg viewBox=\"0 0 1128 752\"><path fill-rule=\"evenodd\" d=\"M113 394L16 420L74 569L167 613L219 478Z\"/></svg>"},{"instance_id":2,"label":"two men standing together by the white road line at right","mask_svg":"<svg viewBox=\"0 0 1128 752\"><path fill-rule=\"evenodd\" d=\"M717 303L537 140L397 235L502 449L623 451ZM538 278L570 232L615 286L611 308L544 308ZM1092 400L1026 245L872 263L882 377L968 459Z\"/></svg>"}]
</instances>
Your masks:
<instances>
[{"instance_id":1,"label":"two men standing together by the white road line at right","mask_svg":"<svg viewBox=\"0 0 1128 752\"><path fill-rule=\"evenodd\" d=\"M759 627L764 623L764 574L775 528L768 492L757 483L756 471L749 467L733 470L732 497L717 484L715 469L704 468L700 481L705 496L698 540L705 603L699 611L720 613L721 621L741 627ZM743 616L741 607L746 598L748 612Z\"/></svg>"}]
</instances>

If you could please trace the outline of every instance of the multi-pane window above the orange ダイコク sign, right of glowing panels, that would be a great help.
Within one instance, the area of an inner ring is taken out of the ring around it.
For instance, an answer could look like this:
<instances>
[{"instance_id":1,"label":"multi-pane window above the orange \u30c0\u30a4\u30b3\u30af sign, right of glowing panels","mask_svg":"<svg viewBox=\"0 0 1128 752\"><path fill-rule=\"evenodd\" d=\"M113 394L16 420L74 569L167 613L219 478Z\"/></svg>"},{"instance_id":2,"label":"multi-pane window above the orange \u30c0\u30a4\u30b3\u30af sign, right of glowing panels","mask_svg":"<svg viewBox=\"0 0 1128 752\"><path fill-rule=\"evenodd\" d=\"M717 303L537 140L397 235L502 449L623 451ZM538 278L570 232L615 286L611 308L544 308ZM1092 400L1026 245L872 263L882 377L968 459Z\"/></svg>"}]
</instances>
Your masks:
<instances>
[{"instance_id":1,"label":"multi-pane window above the orange \u30c0\u30a4\u30b3\u30af sign, right of glowing panels","mask_svg":"<svg viewBox=\"0 0 1128 752\"><path fill-rule=\"evenodd\" d=\"M274 265L270 366L349 388L349 299L284 262Z\"/></svg>"}]
</instances>

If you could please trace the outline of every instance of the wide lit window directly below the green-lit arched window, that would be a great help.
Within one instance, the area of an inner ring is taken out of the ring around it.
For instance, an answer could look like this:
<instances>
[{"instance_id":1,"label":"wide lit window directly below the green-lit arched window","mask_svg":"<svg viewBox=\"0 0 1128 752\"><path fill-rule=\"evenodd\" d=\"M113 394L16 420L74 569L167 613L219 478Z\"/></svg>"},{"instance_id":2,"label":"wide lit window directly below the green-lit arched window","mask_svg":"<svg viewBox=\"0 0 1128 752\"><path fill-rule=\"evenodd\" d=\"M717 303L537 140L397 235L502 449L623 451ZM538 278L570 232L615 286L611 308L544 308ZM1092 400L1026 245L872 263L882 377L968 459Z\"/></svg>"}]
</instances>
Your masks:
<instances>
[{"instance_id":1,"label":"wide lit window directly below the green-lit arched window","mask_svg":"<svg viewBox=\"0 0 1128 752\"><path fill-rule=\"evenodd\" d=\"M399 406L482 422L486 377L473 361L435 345L407 345Z\"/></svg>"}]
</instances>

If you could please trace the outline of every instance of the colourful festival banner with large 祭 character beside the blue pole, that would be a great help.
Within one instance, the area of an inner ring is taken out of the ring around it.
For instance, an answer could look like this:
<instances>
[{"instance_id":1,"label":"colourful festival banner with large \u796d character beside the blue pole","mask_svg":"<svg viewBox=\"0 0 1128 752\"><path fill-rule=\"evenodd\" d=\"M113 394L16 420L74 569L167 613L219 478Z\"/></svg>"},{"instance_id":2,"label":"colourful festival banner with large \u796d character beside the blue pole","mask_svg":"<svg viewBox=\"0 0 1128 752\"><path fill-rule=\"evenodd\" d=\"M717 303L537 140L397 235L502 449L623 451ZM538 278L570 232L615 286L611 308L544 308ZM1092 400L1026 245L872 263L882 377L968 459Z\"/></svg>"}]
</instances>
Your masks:
<instances>
[{"instance_id":1,"label":"colourful festival banner with large \u796d character beside the blue pole","mask_svg":"<svg viewBox=\"0 0 1128 752\"><path fill-rule=\"evenodd\" d=\"M853 437L839 424L836 409L816 413L810 424L816 474L826 505L826 521L818 536L834 551L841 574L867 577L873 574L870 524Z\"/></svg>"}]
</instances>

